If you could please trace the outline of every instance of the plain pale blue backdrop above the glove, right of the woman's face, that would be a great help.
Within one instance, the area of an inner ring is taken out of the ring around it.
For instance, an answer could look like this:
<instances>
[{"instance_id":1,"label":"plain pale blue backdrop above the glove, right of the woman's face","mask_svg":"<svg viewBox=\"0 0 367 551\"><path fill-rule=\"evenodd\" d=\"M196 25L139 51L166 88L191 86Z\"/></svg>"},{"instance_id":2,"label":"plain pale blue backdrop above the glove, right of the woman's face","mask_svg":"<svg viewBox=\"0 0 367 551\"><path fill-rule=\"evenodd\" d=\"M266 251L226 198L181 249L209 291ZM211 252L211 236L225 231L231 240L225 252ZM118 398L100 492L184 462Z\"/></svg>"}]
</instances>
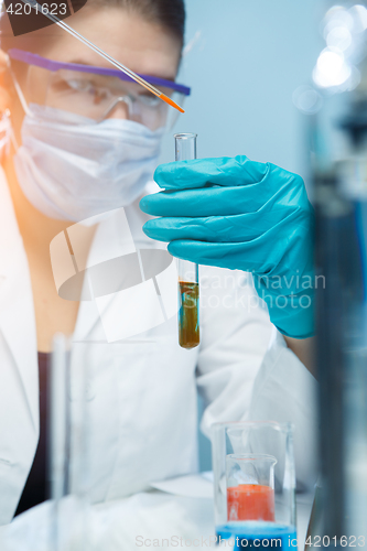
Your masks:
<instances>
[{"instance_id":1,"label":"plain pale blue backdrop above the glove, right of the woman's face","mask_svg":"<svg viewBox=\"0 0 367 551\"><path fill-rule=\"evenodd\" d=\"M246 154L306 176L304 116L292 94L311 83L324 42L324 0L186 0L180 79L192 87L174 131L198 134L198 156ZM173 160L173 131L162 162Z\"/></svg>"}]
</instances>

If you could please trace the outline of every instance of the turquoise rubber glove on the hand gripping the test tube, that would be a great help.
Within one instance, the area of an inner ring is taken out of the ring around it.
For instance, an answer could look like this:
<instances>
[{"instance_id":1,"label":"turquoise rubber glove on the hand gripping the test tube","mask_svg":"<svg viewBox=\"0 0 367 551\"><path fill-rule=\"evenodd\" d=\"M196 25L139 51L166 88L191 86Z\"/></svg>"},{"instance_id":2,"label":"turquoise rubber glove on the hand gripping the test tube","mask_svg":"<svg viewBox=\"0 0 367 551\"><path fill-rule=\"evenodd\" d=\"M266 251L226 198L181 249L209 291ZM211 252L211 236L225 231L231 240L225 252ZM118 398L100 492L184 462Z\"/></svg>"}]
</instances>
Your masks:
<instances>
[{"instance_id":1,"label":"turquoise rubber glove on the hand gripping the test tube","mask_svg":"<svg viewBox=\"0 0 367 551\"><path fill-rule=\"evenodd\" d=\"M165 191L143 197L144 233L171 241L174 257L252 272L272 323L295 338L313 335L314 213L303 181L246 156L163 164Z\"/></svg>"}]
</instances>

